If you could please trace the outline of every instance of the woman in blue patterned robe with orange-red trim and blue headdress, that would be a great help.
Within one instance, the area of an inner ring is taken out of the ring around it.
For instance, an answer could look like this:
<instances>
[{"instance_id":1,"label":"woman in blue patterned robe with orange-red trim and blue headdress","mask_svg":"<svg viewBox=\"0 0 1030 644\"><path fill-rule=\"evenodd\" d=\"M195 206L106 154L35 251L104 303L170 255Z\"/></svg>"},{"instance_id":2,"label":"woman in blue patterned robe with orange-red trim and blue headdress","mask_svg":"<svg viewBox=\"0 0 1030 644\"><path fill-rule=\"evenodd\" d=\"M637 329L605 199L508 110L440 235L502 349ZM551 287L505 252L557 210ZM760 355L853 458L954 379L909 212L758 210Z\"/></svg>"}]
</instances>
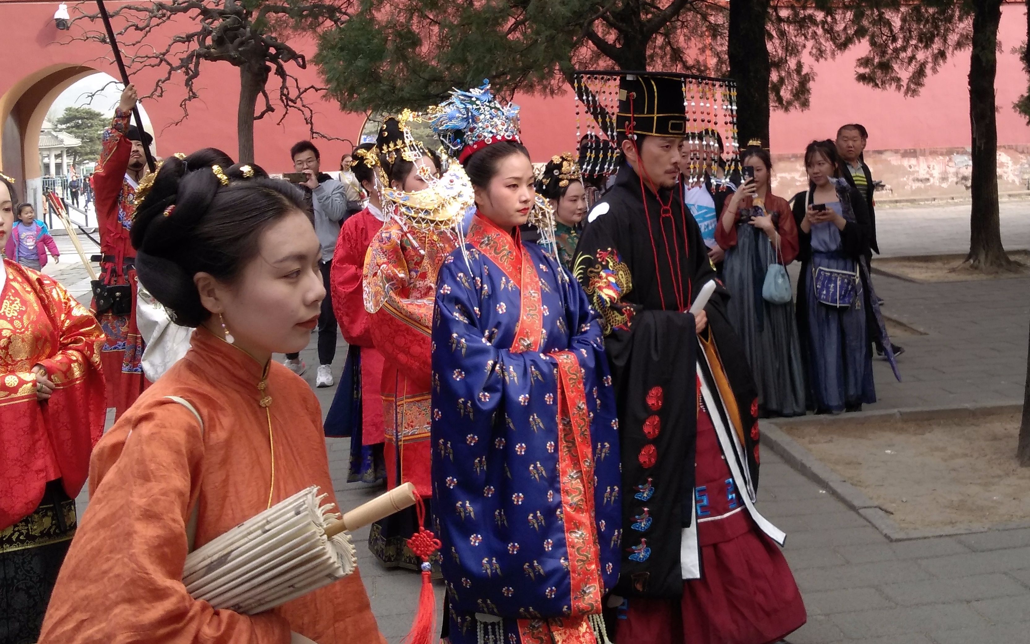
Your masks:
<instances>
[{"instance_id":1,"label":"woman in blue patterned robe with orange-red trim and blue headdress","mask_svg":"<svg viewBox=\"0 0 1030 644\"><path fill-rule=\"evenodd\" d=\"M444 637L593 644L619 572L615 397L597 316L548 239L517 110L484 84L430 112L477 207L440 269L433 326ZM523 243L527 221L550 243Z\"/></svg>"}]
</instances>

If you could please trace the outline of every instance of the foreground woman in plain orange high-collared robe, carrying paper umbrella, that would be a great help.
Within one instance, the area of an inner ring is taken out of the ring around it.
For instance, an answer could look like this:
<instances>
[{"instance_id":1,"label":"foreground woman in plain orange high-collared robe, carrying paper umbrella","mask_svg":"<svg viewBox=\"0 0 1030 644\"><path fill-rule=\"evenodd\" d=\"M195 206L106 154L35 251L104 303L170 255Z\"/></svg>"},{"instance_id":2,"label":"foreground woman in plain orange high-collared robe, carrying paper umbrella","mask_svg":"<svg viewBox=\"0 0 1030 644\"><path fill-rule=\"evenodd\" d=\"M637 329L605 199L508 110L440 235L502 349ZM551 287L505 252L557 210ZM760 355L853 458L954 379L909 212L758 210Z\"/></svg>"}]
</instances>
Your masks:
<instances>
[{"instance_id":1,"label":"foreground woman in plain orange high-collared robe, carrying paper umbrella","mask_svg":"<svg viewBox=\"0 0 1030 644\"><path fill-rule=\"evenodd\" d=\"M181 581L191 549L271 505L311 484L335 501L318 402L271 360L318 321L318 239L295 187L230 163L210 148L166 160L137 211L140 280L197 330L97 445L40 643L384 641L356 571L256 615Z\"/></svg>"}]
</instances>

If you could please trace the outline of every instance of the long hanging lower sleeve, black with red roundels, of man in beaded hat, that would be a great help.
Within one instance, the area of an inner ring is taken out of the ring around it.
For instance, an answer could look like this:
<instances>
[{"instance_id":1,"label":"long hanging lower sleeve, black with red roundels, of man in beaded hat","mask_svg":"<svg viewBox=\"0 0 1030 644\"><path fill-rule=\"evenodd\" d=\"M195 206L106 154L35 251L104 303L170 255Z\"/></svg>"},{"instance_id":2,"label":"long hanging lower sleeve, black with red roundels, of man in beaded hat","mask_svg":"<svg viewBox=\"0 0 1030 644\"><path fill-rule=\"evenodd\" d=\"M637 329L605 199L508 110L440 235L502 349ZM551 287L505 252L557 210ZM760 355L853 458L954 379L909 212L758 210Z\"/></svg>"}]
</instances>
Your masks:
<instances>
[{"instance_id":1,"label":"long hanging lower sleeve, black with red roundels, of man in beaded hat","mask_svg":"<svg viewBox=\"0 0 1030 644\"><path fill-rule=\"evenodd\" d=\"M644 311L630 332L607 341L623 481L616 595L670 598L683 591L680 535L693 518L697 432L693 338L692 315ZM648 553L644 561L642 552Z\"/></svg>"}]
</instances>

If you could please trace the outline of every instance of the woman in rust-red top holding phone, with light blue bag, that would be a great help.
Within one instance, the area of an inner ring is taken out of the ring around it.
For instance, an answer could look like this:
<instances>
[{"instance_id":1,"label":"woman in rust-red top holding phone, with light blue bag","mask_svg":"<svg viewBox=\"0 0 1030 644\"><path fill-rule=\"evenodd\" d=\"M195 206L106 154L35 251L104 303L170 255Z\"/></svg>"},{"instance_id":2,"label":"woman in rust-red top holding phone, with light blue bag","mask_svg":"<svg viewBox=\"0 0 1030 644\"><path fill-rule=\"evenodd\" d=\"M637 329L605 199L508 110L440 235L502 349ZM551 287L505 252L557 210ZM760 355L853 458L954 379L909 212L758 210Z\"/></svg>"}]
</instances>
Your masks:
<instances>
[{"instance_id":1,"label":"woman in rust-red top holding phone, with light blue bag","mask_svg":"<svg viewBox=\"0 0 1030 644\"><path fill-rule=\"evenodd\" d=\"M797 224L787 201L769 188L768 150L749 146L741 158L745 182L726 202L715 231L716 242L726 249L723 279L733 296L726 309L758 385L758 415L804 415L804 370L792 303L762 297L768 267L786 266L797 257Z\"/></svg>"}]
</instances>

